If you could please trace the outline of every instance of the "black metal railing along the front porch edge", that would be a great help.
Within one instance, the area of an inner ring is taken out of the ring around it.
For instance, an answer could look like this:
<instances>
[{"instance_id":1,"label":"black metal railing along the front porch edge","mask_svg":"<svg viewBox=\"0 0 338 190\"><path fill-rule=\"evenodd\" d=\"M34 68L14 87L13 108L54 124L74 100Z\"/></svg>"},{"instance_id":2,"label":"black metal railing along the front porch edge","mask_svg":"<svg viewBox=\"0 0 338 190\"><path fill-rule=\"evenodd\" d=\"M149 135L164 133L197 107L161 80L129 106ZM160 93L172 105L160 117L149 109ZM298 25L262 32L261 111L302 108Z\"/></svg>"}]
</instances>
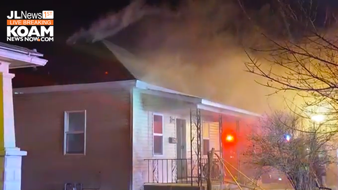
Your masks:
<instances>
[{"instance_id":1,"label":"black metal railing along the front porch edge","mask_svg":"<svg viewBox=\"0 0 338 190\"><path fill-rule=\"evenodd\" d=\"M147 180L145 183L197 183L197 161L194 159L145 159L147 165ZM208 175L208 159L201 159L201 180L206 183ZM219 159L213 160L211 168L212 181L222 181L223 172Z\"/></svg>"}]
</instances>

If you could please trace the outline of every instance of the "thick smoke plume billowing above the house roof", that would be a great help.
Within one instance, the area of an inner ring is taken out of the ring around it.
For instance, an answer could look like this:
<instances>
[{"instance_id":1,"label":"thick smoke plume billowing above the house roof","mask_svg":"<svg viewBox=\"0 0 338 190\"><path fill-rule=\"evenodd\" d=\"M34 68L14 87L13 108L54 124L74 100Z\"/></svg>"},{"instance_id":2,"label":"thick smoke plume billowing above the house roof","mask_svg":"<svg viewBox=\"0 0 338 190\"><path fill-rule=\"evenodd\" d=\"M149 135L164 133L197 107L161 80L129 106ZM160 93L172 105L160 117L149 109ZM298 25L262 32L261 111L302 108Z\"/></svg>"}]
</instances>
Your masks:
<instances>
[{"instance_id":1,"label":"thick smoke plume billowing above the house roof","mask_svg":"<svg viewBox=\"0 0 338 190\"><path fill-rule=\"evenodd\" d=\"M121 16L117 20L124 27L118 32L105 29L111 34L96 35L94 40L104 38L132 74L155 85L257 113L285 109L285 101L293 101L294 93L274 94L274 89L257 83L265 79L245 72L248 57L244 49L268 45L261 31L275 39L287 37L273 4L243 11L238 1L188 0L174 10L169 6L160 9L151 14L145 9L129 11L137 15L134 22L126 24ZM98 27L112 20L98 23L87 31L97 33ZM256 56L264 63L264 55Z\"/></svg>"}]
</instances>

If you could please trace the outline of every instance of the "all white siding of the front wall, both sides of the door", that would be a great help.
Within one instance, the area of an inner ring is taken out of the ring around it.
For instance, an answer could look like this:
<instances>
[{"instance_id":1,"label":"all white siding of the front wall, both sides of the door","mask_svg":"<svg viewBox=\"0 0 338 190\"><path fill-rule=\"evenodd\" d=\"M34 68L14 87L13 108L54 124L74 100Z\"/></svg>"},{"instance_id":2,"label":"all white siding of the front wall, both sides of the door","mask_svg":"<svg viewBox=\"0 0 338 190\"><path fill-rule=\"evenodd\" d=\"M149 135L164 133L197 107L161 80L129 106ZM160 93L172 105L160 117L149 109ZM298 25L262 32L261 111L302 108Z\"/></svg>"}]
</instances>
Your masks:
<instances>
[{"instance_id":1,"label":"all white siding of the front wall, both sides of the door","mask_svg":"<svg viewBox=\"0 0 338 190\"><path fill-rule=\"evenodd\" d=\"M172 119L186 119L186 151L190 158L190 116L175 114L174 108L178 105L184 107L174 99L165 99L153 95L143 94L140 89L134 88L132 93L133 103L133 190L142 190L144 183L172 183L175 182L176 163L166 159L176 159L176 144L169 143L169 137L176 137L175 122ZM172 109L172 110L170 110ZM159 111L166 110L166 111ZM188 113L188 106L187 112ZM181 110L182 111L182 110ZM171 113L168 113L171 112ZM153 155L153 114L163 115L163 155ZM181 112L182 113L182 112ZM210 125L210 149L219 150L219 128L218 122L209 122ZM194 150L193 150L194 151ZM145 161L145 159L159 159L158 161ZM161 160L162 159L162 160ZM187 166L190 176L190 161ZM156 169L154 172L153 169ZM156 173L157 175L153 175ZM195 173L195 172L194 172Z\"/></svg>"}]
</instances>

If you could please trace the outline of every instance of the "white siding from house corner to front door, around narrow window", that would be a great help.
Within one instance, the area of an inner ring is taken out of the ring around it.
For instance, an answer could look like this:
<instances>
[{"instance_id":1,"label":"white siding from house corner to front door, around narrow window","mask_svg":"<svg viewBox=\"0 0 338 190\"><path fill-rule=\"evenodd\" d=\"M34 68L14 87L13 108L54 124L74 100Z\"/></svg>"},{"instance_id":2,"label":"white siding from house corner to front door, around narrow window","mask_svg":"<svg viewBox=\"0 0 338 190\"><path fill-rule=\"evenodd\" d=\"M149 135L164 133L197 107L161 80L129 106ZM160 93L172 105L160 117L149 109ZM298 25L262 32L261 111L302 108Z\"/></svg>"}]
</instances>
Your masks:
<instances>
[{"instance_id":1,"label":"white siding from house corner to front door, around narrow window","mask_svg":"<svg viewBox=\"0 0 338 190\"><path fill-rule=\"evenodd\" d=\"M170 161L158 162L145 161L144 159L174 159L176 158L176 144L169 143L169 137L176 137L175 123L170 123L170 114L161 112L152 112L149 107L151 104L161 104L161 100L144 101L144 98L139 89L133 90L133 190L143 189L145 182L170 182ZM145 104L147 103L147 104ZM160 105L156 105L160 106ZM152 116L154 113L163 115L163 155L153 155L153 125ZM157 166L158 176L153 176L153 164ZM168 168L168 170L167 170ZM150 171L148 173L148 171Z\"/></svg>"}]
</instances>

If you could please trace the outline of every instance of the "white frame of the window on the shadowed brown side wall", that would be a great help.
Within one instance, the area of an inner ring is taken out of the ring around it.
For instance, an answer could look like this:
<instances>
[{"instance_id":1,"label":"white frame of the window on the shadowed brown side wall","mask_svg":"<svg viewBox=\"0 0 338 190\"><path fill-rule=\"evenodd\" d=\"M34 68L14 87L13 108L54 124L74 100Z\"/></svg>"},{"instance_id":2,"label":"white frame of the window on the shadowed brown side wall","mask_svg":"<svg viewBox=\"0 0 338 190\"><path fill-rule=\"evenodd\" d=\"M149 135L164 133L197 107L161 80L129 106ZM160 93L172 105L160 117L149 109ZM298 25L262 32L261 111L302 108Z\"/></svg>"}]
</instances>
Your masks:
<instances>
[{"instance_id":1,"label":"white frame of the window on the shadowed brown side wall","mask_svg":"<svg viewBox=\"0 0 338 190\"><path fill-rule=\"evenodd\" d=\"M69 125L69 113L83 113L84 112L84 131L68 131ZM86 133L87 133L87 111L86 110L75 110L75 111L65 111L64 113L64 155L86 155ZM84 148L83 153L67 153L67 134L84 134Z\"/></svg>"}]
</instances>

